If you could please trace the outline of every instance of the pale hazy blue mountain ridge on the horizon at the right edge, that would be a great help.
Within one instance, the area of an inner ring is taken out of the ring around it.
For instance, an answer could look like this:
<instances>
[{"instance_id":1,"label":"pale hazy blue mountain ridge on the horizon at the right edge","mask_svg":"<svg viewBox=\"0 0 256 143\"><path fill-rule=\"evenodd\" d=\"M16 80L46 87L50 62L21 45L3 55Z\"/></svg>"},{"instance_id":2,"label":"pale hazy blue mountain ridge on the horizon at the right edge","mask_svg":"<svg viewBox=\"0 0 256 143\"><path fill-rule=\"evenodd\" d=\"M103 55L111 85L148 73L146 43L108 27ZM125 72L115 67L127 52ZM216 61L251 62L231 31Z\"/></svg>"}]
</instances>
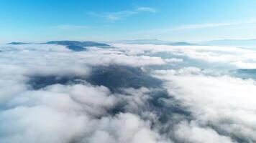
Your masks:
<instances>
[{"instance_id":1,"label":"pale hazy blue mountain ridge on the horizon at the right edge","mask_svg":"<svg viewBox=\"0 0 256 143\"><path fill-rule=\"evenodd\" d=\"M212 45L212 46L250 46L256 47L256 39L224 39L224 40L213 40L202 42L203 45Z\"/></svg>"}]
</instances>

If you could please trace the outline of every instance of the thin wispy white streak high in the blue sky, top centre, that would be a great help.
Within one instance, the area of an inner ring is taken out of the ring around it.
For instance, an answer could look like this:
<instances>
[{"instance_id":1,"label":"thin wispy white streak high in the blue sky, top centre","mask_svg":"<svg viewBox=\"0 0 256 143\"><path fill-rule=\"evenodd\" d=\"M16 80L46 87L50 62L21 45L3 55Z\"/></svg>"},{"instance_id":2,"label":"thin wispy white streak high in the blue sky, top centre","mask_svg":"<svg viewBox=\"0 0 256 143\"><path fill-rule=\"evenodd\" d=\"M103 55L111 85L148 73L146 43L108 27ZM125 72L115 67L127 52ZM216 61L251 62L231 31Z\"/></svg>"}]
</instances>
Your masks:
<instances>
[{"instance_id":1,"label":"thin wispy white streak high in the blue sky, top centre","mask_svg":"<svg viewBox=\"0 0 256 143\"><path fill-rule=\"evenodd\" d=\"M140 14L142 12L156 13L157 10L151 7L138 7L132 11L116 11L116 12L90 12L89 14L93 16L98 16L106 19L106 21L116 21L119 19L124 19L132 15Z\"/></svg>"}]
</instances>

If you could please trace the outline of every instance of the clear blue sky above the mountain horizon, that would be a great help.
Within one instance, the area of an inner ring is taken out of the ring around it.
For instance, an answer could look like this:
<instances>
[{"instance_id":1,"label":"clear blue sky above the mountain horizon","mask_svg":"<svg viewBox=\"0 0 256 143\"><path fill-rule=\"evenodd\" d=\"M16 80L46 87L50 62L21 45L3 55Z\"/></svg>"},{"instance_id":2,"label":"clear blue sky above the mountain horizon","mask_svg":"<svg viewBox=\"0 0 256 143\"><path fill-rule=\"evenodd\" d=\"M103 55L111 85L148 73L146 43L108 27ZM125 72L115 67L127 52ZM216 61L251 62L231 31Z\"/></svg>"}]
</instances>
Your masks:
<instances>
[{"instance_id":1,"label":"clear blue sky above the mountain horizon","mask_svg":"<svg viewBox=\"0 0 256 143\"><path fill-rule=\"evenodd\" d=\"M256 39L255 0L1 0L0 41Z\"/></svg>"}]
</instances>

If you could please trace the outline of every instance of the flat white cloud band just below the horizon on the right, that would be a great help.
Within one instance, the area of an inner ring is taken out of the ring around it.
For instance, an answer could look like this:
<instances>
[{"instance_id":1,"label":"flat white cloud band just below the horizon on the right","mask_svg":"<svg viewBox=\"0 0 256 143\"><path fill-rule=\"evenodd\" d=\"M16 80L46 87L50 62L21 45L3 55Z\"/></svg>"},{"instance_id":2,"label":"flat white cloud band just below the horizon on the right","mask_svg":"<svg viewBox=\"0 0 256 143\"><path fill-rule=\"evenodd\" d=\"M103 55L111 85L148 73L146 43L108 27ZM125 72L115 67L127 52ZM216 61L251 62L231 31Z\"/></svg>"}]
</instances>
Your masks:
<instances>
[{"instance_id":1,"label":"flat white cloud band just below the horizon on the right","mask_svg":"<svg viewBox=\"0 0 256 143\"><path fill-rule=\"evenodd\" d=\"M253 49L242 49L229 46L168 46L152 44L113 44L129 54L168 53L187 59L206 62L206 66L225 66L225 68L254 69L256 52ZM175 58L175 57L171 57ZM170 59L165 59L169 61ZM183 59L184 61L184 59ZM191 61L190 64L193 64ZM201 66L201 65L200 65ZM204 67L202 67L204 68Z\"/></svg>"}]
</instances>

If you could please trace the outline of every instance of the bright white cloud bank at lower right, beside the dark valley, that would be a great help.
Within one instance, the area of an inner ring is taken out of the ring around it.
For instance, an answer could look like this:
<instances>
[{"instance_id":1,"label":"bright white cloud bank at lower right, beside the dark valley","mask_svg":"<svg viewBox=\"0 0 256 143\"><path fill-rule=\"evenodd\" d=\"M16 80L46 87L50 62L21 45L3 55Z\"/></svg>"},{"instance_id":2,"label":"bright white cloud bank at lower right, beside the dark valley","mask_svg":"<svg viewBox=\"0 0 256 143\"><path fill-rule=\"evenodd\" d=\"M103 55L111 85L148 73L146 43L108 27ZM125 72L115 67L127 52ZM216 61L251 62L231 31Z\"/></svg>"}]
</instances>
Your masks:
<instances>
[{"instance_id":1,"label":"bright white cloud bank at lower right, beside the dark valley","mask_svg":"<svg viewBox=\"0 0 256 143\"><path fill-rule=\"evenodd\" d=\"M256 98L253 94L256 92L255 80L229 76L211 77L204 75L201 70L194 69L155 71L155 76L166 81L165 87L168 92L188 107L193 114L193 122L202 128L215 127L224 134L233 134L250 142L255 141L252 135L256 133L256 124L252 121L256 117L254 106ZM191 140L196 130L202 130L203 134L209 132L209 129L204 131L204 129L187 126L185 129L188 129L188 132L185 136L188 139L191 137ZM214 138L219 134L214 131L210 133ZM223 135L219 134L219 136ZM200 135L200 137L203 136ZM204 139L198 142L203 141Z\"/></svg>"}]
</instances>

